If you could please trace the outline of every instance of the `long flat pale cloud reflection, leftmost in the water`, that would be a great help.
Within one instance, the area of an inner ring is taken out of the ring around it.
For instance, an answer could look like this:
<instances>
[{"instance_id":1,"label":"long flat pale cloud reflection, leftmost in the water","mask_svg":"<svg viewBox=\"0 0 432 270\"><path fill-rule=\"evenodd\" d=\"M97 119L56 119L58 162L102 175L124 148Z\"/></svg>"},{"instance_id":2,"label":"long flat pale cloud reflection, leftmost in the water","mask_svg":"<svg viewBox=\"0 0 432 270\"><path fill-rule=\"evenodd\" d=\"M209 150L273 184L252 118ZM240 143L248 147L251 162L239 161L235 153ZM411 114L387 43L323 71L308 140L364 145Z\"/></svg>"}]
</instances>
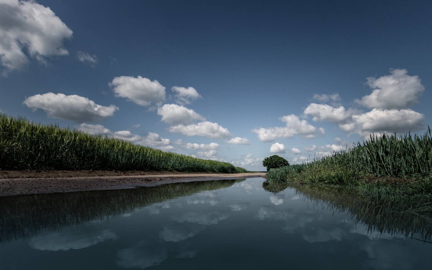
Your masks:
<instances>
[{"instance_id":1,"label":"long flat pale cloud reflection, leftmost in the water","mask_svg":"<svg viewBox=\"0 0 432 270\"><path fill-rule=\"evenodd\" d=\"M38 250L67 251L70 249L87 248L108 239L117 239L117 235L108 229L93 234L56 232L50 235L34 237L30 239L29 245Z\"/></svg>"}]
</instances>

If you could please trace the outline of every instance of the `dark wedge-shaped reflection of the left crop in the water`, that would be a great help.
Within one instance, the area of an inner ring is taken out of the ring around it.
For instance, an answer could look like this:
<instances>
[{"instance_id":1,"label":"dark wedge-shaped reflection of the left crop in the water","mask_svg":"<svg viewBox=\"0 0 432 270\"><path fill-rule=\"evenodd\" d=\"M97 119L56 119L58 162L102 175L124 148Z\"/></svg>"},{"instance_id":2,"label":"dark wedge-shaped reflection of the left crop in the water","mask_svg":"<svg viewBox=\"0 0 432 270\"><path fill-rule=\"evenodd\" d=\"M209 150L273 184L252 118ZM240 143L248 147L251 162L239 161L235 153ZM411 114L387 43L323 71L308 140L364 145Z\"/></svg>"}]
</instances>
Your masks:
<instances>
[{"instance_id":1,"label":"dark wedge-shaped reflection of the left crop in the water","mask_svg":"<svg viewBox=\"0 0 432 270\"><path fill-rule=\"evenodd\" d=\"M230 187L245 180L196 181L136 189L0 197L0 241L103 220L152 203Z\"/></svg>"}]
</instances>

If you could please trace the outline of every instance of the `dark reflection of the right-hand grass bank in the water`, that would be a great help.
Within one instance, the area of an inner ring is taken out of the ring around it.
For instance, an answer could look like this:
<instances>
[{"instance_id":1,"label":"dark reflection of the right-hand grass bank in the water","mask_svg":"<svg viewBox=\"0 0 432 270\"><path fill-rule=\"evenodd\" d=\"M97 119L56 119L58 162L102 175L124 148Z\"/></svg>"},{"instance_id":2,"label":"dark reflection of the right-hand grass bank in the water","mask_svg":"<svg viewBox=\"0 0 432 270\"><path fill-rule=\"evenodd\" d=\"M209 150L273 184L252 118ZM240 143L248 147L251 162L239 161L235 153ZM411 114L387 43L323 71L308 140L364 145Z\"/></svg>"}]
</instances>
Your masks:
<instances>
[{"instance_id":1,"label":"dark reflection of the right-hand grass bank in the water","mask_svg":"<svg viewBox=\"0 0 432 270\"><path fill-rule=\"evenodd\" d=\"M368 232L402 234L430 241L432 236L432 203L429 197L402 194L371 195L346 187L290 184L315 206L346 211L368 227Z\"/></svg>"}]
</instances>

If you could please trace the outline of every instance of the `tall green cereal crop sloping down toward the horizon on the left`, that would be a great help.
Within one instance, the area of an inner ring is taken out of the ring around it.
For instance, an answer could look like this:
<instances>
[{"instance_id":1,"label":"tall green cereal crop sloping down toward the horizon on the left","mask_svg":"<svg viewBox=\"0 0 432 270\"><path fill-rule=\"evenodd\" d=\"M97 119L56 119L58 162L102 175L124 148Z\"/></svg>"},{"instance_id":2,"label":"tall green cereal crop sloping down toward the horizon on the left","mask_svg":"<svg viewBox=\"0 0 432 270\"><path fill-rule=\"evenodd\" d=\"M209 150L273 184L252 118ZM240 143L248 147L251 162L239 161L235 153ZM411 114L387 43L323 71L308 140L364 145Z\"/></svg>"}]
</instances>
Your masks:
<instances>
[{"instance_id":1,"label":"tall green cereal crop sloping down toward the horizon on the left","mask_svg":"<svg viewBox=\"0 0 432 270\"><path fill-rule=\"evenodd\" d=\"M167 170L236 173L227 162L197 159L79 130L0 114L0 168Z\"/></svg>"}]
</instances>

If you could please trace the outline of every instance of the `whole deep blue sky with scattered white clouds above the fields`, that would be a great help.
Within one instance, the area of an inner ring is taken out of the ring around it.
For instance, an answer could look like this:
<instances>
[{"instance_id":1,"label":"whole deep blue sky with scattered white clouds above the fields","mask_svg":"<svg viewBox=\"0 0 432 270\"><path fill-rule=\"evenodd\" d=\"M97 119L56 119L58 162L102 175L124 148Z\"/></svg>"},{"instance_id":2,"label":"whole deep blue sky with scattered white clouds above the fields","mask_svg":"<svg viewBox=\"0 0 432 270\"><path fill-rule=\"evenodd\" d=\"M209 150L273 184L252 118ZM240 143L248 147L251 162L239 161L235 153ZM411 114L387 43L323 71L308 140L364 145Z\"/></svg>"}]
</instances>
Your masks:
<instances>
[{"instance_id":1,"label":"whole deep blue sky with scattered white clouds above the fields","mask_svg":"<svg viewBox=\"0 0 432 270\"><path fill-rule=\"evenodd\" d=\"M0 0L0 112L258 171L422 134L431 8Z\"/></svg>"}]
</instances>

